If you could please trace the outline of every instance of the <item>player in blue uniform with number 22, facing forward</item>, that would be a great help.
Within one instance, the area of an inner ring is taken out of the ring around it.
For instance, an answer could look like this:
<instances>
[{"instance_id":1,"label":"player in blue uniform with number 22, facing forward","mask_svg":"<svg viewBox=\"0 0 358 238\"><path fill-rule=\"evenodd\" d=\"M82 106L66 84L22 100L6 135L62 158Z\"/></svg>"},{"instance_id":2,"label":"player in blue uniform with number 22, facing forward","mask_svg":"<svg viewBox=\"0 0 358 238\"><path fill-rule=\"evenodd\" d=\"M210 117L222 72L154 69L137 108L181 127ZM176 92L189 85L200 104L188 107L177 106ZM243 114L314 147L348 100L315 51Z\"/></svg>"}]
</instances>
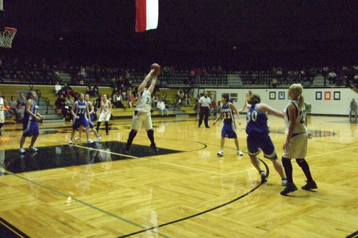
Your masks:
<instances>
[{"instance_id":1,"label":"player in blue uniform with number 22, facing forward","mask_svg":"<svg viewBox=\"0 0 358 238\"><path fill-rule=\"evenodd\" d=\"M235 125L235 118L234 118L234 113L236 113L238 119L239 119L239 125L241 125L241 121L240 121L240 116L239 113L237 112L236 107L229 101L229 95L228 94L223 94L221 96L221 110L220 113L218 115L218 117L216 118L216 120L213 122L213 125L216 124L216 122L220 119L223 118L223 124L221 127L221 143L220 143L220 151L218 152L218 156L223 156L224 155L224 143L225 143L225 137L228 138L233 138L235 141L235 145L236 145L236 149L237 149L237 155L242 156L243 153L241 152L241 150L239 149L239 141L237 140L237 135L236 135L236 125Z\"/></svg>"}]
</instances>

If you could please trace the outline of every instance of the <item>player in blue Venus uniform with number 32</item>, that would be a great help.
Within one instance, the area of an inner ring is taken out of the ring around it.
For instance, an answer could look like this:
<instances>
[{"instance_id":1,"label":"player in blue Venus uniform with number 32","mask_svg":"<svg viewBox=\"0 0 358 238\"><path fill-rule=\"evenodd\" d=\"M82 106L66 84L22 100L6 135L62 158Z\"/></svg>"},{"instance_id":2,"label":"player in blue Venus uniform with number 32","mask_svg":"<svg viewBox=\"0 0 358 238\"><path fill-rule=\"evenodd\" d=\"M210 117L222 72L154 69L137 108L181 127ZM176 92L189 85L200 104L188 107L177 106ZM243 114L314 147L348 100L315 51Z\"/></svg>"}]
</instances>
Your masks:
<instances>
[{"instance_id":1,"label":"player in blue Venus uniform with number 32","mask_svg":"<svg viewBox=\"0 0 358 238\"><path fill-rule=\"evenodd\" d=\"M76 110L76 112L75 112ZM71 131L71 139L69 139L69 144L72 145L74 133L79 128L80 125L83 125L84 128L86 128L86 136L87 136L87 142L86 143L93 143L93 141L89 140L89 122L88 118L89 111L88 111L88 104L86 101L84 101L84 95L83 93L79 94L79 100L73 103L71 113L73 116L73 122L72 122L72 131ZM88 116L88 118L87 118Z\"/></svg>"}]
</instances>

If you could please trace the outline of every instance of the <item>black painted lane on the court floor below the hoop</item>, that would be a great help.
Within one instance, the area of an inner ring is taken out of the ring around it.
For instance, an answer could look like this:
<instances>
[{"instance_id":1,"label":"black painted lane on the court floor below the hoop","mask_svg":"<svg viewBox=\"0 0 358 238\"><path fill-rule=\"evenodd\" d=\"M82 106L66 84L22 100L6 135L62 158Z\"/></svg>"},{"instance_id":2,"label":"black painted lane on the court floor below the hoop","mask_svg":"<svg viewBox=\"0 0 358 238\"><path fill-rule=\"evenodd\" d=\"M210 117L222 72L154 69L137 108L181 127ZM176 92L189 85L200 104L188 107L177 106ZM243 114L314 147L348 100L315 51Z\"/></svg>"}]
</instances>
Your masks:
<instances>
[{"instance_id":1,"label":"black painted lane on the court floor below the hoop","mask_svg":"<svg viewBox=\"0 0 358 238\"><path fill-rule=\"evenodd\" d=\"M118 141L49 146L38 147L38 152L28 151L25 155L18 150L0 150L0 175L181 152L159 148L155 153L149 146L133 144L127 156L122 153L124 146L125 143Z\"/></svg>"}]
</instances>

